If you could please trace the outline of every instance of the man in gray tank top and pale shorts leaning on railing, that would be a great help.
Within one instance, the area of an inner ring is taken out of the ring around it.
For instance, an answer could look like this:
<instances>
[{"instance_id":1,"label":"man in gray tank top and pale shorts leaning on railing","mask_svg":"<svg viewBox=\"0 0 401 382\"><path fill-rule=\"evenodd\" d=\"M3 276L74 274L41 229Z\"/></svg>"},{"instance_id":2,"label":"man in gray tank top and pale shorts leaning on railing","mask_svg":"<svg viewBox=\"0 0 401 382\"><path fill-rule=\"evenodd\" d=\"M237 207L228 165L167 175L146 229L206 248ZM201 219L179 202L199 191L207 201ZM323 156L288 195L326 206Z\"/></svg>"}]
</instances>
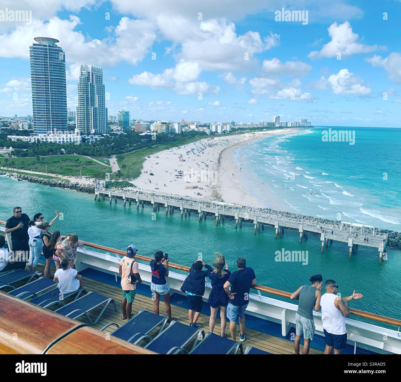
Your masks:
<instances>
[{"instance_id":1,"label":"man in gray tank top and pale shorts leaning on railing","mask_svg":"<svg viewBox=\"0 0 401 382\"><path fill-rule=\"evenodd\" d=\"M322 275L313 275L309 281L312 285L300 286L292 295L291 300L299 300L298 311L295 314L296 336L294 340L295 354L300 354L300 341L304 335L304 348L302 354L308 354L310 348L310 340L315 334L315 323L313 320L312 310L316 312L320 309L320 291L323 288Z\"/></svg>"}]
</instances>

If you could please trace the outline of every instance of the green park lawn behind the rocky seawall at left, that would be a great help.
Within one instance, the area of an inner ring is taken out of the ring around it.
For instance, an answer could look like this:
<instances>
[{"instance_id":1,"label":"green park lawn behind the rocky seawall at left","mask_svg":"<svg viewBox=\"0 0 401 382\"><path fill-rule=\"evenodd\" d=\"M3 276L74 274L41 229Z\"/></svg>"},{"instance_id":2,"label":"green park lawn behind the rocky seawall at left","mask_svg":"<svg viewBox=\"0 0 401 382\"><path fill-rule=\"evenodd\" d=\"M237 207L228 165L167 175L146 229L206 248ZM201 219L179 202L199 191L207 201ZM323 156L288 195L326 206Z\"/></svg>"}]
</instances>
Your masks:
<instances>
[{"instance_id":1,"label":"green park lawn behind the rocky seawall at left","mask_svg":"<svg viewBox=\"0 0 401 382\"><path fill-rule=\"evenodd\" d=\"M14 162L14 163L12 163ZM103 166L89 158L80 155L52 155L49 157L40 157L37 161L36 157L30 158L8 158L6 164L6 158L0 158L2 167L16 168L18 163L18 169L22 170L33 170L42 173L47 172L57 175L79 175L82 170L82 175L92 177L105 177L106 172L110 172L110 167Z\"/></svg>"}]
</instances>

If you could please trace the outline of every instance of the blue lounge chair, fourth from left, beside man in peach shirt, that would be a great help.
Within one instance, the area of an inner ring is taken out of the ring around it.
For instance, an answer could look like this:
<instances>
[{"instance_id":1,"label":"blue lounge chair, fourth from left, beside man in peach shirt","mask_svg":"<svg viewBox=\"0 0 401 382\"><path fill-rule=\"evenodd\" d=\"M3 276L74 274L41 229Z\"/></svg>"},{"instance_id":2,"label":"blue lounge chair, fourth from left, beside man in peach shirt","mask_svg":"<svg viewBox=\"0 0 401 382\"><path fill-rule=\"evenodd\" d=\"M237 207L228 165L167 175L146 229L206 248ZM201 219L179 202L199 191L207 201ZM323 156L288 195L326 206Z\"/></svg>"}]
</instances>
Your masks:
<instances>
[{"instance_id":1,"label":"blue lounge chair, fourth from left, beside man in peach shirt","mask_svg":"<svg viewBox=\"0 0 401 382\"><path fill-rule=\"evenodd\" d=\"M113 303L114 310L117 312L117 307L115 306L115 302L112 298L103 296L95 292L88 292L88 294L86 294L85 296L82 296L77 300L74 300L73 302L70 302L69 304L55 310L55 313L62 314L63 316L72 318L73 320L85 315L89 322L92 325L95 325L110 303ZM103 304L104 307L99 313L99 316L97 316L95 321L92 321L91 318L88 316L88 313Z\"/></svg>"}]
</instances>

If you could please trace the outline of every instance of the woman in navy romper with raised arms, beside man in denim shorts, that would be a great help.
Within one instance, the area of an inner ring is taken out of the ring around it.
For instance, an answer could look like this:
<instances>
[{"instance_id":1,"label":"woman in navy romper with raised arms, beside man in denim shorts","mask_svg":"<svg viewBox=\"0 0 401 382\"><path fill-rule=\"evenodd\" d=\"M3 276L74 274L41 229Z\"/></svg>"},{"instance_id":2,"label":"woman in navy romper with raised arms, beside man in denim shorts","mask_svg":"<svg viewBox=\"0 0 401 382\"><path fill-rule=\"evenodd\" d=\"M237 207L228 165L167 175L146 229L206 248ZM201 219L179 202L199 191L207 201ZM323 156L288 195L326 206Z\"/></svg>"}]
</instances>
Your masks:
<instances>
[{"instance_id":1,"label":"woman in navy romper with raised arms, beside man in denim shorts","mask_svg":"<svg viewBox=\"0 0 401 382\"><path fill-rule=\"evenodd\" d=\"M213 333L216 323L217 311L220 307L220 327L221 336L225 337L225 328L227 324L226 311L227 305L229 303L229 297L224 291L224 284L231 276L231 272L228 270L228 265L225 261L224 256L221 253L216 252L216 259L213 262L213 267L215 270L210 273L207 277L211 279L212 290L209 294L209 300L207 302L210 304L210 319L209 319L209 332ZM225 267L225 270L223 268Z\"/></svg>"}]
</instances>

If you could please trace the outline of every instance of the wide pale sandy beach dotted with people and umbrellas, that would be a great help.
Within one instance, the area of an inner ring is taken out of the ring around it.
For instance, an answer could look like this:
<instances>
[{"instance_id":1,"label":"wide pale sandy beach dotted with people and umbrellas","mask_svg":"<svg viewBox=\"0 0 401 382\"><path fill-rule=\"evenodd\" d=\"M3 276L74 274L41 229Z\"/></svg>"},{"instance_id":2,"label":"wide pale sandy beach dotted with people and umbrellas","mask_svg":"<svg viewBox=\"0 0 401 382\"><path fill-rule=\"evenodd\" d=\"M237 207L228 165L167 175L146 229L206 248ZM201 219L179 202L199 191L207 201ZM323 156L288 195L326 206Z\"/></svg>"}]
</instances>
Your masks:
<instances>
[{"instance_id":1,"label":"wide pale sandy beach dotted with people and umbrellas","mask_svg":"<svg viewBox=\"0 0 401 382\"><path fill-rule=\"evenodd\" d=\"M146 159L142 174L132 183L146 191L262 207L243 187L241 169L235 164L233 154L257 139L296 131L282 129L210 137L160 151Z\"/></svg>"}]
</instances>

